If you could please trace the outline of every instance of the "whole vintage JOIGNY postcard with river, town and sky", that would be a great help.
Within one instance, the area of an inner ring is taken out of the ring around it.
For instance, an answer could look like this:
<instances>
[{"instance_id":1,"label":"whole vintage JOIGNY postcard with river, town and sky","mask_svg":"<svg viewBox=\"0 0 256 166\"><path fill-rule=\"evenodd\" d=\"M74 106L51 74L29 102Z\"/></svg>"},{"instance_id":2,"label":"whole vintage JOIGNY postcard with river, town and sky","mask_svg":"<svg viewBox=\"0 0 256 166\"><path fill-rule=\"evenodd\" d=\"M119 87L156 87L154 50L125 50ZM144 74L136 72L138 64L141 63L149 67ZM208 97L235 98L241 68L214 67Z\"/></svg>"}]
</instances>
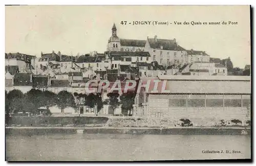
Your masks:
<instances>
[{"instance_id":1,"label":"whole vintage JOIGNY postcard with river, town and sky","mask_svg":"<svg viewBox=\"0 0 256 166\"><path fill-rule=\"evenodd\" d=\"M250 6L6 6L7 161L251 159Z\"/></svg>"}]
</instances>

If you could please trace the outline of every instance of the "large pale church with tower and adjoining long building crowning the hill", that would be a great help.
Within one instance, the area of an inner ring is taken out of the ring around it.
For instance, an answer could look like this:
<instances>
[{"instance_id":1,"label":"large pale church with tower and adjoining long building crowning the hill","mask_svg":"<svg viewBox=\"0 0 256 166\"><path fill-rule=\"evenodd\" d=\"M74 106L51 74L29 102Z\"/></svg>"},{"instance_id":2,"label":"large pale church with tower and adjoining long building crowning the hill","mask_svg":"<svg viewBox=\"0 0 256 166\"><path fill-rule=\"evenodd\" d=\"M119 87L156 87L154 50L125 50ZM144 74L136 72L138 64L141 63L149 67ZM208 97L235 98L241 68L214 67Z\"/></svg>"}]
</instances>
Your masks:
<instances>
[{"instance_id":1,"label":"large pale church with tower and adjoining long building crowning the hill","mask_svg":"<svg viewBox=\"0 0 256 166\"><path fill-rule=\"evenodd\" d=\"M172 62L190 63L195 61L209 62L209 55L203 51L194 51L182 48L176 39L146 38L146 40L122 39L117 36L115 23L112 28L112 36L108 40L108 52L148 52L148 61L157 61L163 66L171 65ZM141 59L139 57L139 59ZM142 59L141 59L142 60ZM139 60L138 60L139 61Z\"/></svg>"}]
</instances>

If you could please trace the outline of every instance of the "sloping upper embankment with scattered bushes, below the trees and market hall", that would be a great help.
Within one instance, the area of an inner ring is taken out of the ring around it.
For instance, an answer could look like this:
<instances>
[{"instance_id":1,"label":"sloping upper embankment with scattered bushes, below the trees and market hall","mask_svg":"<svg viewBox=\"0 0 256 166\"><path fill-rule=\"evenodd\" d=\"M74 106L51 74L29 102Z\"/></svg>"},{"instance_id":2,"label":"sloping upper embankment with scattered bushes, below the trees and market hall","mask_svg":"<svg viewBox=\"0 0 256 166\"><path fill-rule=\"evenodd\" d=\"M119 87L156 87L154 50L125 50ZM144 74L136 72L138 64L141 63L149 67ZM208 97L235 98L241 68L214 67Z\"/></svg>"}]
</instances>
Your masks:
<instances>
[{"instance_id":1,"label":"sloping upper embankment with scattered bushes, below the trees and market hall","mask_svg":"<svg viewBox=\"0 0 256 166\"><path fill-rule=\"evenodd\" d=\"M6 127L250 127L250 121L207 118L156 119L147 117L39 116L10 117Z\"/></svg>"}]
</instances>

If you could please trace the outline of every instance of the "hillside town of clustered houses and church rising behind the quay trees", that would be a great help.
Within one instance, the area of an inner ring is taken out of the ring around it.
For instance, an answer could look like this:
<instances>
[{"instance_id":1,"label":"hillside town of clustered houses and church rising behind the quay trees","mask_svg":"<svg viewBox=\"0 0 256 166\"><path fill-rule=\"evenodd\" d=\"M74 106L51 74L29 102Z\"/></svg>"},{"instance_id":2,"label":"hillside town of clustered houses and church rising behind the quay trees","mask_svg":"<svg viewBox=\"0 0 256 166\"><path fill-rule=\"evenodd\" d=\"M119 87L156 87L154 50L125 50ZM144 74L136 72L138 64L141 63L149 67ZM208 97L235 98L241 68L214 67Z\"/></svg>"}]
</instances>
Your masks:
<instances>
[{"instance_id":1,"label":"hillside town of clustered houses and church rising behind the quay trees","mask_svg":"<svg viewBox=\"0 0 256 166\"><path fill-rule=\"evenodd\" d=\"M111 31L112 34L106 41L104 53L92 51L88 54L73 56L63 55L61 51L49 51L41 52L40 57L23 53L5 53L6 91L17 89L27 93L31 89L39 89L56 94L63 90L72 94L86 94L87 91L84 87L89 80L108 80L113 83L116 80L125 82L126 80L137 81L154 77L163 80L175 76L181 80L188 80L188 77L215 76L219 80L218 76L234 75L234 72L228 71L227 61L216 62L206 51L187 50L179 45L175 38L160 39L158 36L154 36L146 37L145 40L123 39L118 36L115 23ZM250 65L246 65L242 70L239 69L238 72L242 76L243 72L248 72L248 70L249 74L246 76L250 76ZM180 90L182 91L182 89ZM142 109L138 103L141 100L147 100L146 97L142 99L142 96L135 94L134 109L129 113L126 112L126 115L145 115L143 110L148 108L143 106ZM101 98L102 101L107 99L108 94L102 92ZM249 99L246 98L246 100ZM107 104L97 111L87 107L84 103L81 105L79 109L60 110L57 107L52 107L50 111L53 114L76 115L112 115L115 111ZM121 108L117 109L115 114L123 114ZM153 111L153 114L159 117L164 116L161 112L155 114Z\"/></svg>"}]
</instances>

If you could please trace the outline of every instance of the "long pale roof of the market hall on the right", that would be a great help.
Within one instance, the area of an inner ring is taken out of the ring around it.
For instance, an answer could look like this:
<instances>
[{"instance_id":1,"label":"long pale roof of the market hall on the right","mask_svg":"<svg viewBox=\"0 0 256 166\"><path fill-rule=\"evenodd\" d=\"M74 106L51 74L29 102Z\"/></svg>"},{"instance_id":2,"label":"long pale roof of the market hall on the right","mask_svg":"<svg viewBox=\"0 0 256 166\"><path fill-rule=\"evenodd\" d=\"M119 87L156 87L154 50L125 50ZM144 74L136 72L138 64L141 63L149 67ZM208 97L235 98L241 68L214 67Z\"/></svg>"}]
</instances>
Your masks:
<instances>
[{"instance_id":1,"label":"long pale roof of the market hall on the right","mask_svg":"<svg viewBox=\"0 0 256 166\"><path fill-rule=\"evenodd\" d=\"M160 76L159 76L160 77ZM170 76L161 76L170 77ZM174 78L174 76L172 76ZM178 77L178 76L175 76ZM194 80L193 80L194 77ZM169 92L162 92L162 87L165 79L161 79L161 82L158 83L157 90L158 92L152 92L154 90L154 78L151 78L150 88L148 93L177 93L177 94L250 94L251 93L251 86L249 81L230 81L230 80L217 80L218 78L228 77L228 76L208 76L209 78L216 79L216 80L196 80L200 76L179 76L181 80L167 80L166 86L164 90L168 90ZM201 76L205 78L205 76ZM232 77L232 76L229 76ZM243 76L241 76L243 77ZM246 77L246 76L244 76ZM190 78L191 80L185 80L182 78ZM143 84L147 83L147 80L142 80Z\"/></svg>"}]
</instances>

